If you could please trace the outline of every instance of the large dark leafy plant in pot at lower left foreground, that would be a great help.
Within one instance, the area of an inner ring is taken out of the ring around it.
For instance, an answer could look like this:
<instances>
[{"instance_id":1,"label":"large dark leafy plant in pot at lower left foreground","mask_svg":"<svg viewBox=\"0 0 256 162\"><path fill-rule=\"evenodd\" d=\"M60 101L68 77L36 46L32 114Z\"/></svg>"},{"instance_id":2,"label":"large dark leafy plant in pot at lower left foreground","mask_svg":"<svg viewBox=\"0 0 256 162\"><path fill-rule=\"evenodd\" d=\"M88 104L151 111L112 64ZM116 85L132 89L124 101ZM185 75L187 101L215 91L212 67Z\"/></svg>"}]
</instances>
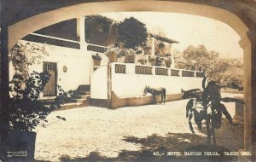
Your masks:
<instances>
[{"instance_id":1,"label":"large dark leafy plant in pot at lower left foreground","mask_svg":"<svg viewBox=\"0 0 256 162\"><path fill-rule=\"evenodd\" d=\"M28 78L16 73L10 81L9 109L4 116L9 124L9 135L4 143L5 151L26 151L24 157L13 157L15 161L33 161L38 124L45 127L49 113L61 107L57 96L54 103L46 107L39 101L40 93L49 81L48 72L32 72ZM63 119L58 117L59 119Z\"/></svg>"}]
</instances>

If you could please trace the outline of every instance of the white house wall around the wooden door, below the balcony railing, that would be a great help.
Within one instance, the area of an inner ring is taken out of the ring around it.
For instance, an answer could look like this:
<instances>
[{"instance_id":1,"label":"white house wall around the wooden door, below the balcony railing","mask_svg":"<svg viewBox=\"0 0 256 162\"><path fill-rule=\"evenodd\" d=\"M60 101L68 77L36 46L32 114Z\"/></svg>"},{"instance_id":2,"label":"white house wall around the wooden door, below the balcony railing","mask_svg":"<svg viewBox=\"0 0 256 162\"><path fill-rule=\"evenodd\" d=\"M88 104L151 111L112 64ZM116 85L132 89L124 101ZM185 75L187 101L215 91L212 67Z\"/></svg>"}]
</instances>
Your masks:
<instances>
[{"instance_id":1,"label":"white house wall around the wooden door, below the balcony railing","mask_svg":"<svg viewBox=\"0 0 256 162\"><path fill-rule=\"evenodd\" d=\"M20 43L26 43L26 41L20 40ZM49 55L44 55L44 58L38 64L29 67L30 72L43 72L44 61L55 62L57 63L57 84L61 85L63 90L76 90L81 84L90 84L90 75L93 72L91 55L95 52L86 52L80 49L71 49L43 43L34 44L44 45ZM63 72L64 66L67 67L67 72ZM15 72L11 62L9 72L10 78L12 78Z\"/></svg>"}]
</instances>

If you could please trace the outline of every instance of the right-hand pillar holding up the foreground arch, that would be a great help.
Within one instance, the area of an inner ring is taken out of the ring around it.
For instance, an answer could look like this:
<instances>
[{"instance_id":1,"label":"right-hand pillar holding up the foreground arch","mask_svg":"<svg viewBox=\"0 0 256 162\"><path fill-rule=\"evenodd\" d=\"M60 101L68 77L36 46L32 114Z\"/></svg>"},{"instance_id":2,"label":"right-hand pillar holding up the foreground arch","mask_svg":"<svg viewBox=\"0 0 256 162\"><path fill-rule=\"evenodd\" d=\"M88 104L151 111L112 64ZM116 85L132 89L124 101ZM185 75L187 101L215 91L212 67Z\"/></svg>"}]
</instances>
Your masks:
<instances>
[{"instance_id":1,"label":"right-hand pillar holding up the foreground arch","mask_svg":"<svg viewBox=\"0 0 256 162\"><path fill-rule=\"evenodd\" d=\"M244 65L244 150L252 152L255 159L255 126L256 126L256 39L255 32L247 32L239 42L243 49ZM245 157L242 157L245 158ZM249 159L241 159L249 160Z\"/></svg>"}]
</instances>

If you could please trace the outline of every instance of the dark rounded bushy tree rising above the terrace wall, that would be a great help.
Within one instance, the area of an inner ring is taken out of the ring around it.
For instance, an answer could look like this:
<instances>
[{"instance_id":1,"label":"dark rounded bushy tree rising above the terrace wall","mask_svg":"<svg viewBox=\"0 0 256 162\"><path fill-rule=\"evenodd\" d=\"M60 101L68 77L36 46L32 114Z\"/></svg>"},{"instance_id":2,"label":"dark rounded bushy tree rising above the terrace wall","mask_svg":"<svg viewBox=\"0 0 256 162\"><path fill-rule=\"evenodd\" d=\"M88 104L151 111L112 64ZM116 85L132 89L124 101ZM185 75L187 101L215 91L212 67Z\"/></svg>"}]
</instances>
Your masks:
<instances>
[{"instance_id":1,"label":"dark rounded bushy tree rising above the terrace wall","mask_svg":"<svg viewBox=\"0 0 256 162\"><path fill-rule=\"evenodd\" d=\"M137 49L146 43L148 38L145 24L131 17L126 18L118 25L118 43L123 43L124 48Z\"/></svg>"}]
</instances>

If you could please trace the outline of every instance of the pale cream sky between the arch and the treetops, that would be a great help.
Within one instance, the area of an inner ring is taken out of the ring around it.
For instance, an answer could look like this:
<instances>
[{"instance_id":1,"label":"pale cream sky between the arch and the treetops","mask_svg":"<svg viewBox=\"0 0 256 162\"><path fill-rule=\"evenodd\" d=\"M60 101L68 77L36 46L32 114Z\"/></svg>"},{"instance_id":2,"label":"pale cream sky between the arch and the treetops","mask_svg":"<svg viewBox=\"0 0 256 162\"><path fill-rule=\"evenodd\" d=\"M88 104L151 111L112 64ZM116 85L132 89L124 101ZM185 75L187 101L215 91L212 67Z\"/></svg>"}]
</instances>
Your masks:
<instances>
[{"instance_id":1,"label":"pale cream sky between the arch and the treetops","mask_svg":"<svg viewBox=\"0 0 256 162\"><path fill-rule=\"evenodd\" d=\"M117 21L135 17L147 26L148 32L162 32L166 38L178 41L173 48L179 51L189 45L203 44L208 50L217 51L221 57L242 59L239 35L218 20L192 14L162 12L114 12L102 15Z\"/></svg>"}]
</instances>

